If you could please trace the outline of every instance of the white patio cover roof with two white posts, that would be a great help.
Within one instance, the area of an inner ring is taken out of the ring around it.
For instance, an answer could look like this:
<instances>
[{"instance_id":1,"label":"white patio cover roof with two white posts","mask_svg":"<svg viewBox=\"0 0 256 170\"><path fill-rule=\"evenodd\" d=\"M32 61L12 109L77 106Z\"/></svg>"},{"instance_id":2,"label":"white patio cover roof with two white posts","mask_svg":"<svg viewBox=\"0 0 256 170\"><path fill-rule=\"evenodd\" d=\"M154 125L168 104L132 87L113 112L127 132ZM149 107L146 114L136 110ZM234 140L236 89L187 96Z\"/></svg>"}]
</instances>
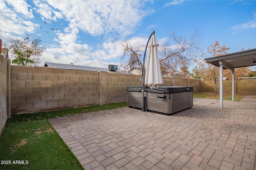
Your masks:
<instances>
[{"instance_id":1,"label":"white patio cover roof with two white posts","mask_svg":"<svg viewBox=\"0 0 256 170\"><path fill-rule=\"evenodd\" d=\"M220 108L223 108L223 69L232 70L232 101L234 101L234 68L255 66L256 49L210 57L205 60L220 67Z\"/></svg>"}]
</instances>

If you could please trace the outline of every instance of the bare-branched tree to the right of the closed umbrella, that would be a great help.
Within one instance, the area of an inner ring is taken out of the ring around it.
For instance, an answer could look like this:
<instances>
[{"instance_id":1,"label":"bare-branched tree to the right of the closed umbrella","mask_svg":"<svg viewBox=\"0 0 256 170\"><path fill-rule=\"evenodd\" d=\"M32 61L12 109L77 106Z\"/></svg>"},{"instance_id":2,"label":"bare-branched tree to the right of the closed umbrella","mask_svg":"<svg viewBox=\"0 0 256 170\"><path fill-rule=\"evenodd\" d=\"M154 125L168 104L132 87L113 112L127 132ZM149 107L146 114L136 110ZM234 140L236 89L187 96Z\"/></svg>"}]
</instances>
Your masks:
<instances>
[{"instance_id":1,"label":"bare-branched tree to the right of the closed umbrella","mask_svg":"<svg viewBox=\"0 0 256 170\"><path fill-rule=\"evenodd\" d=\"M196 54L202 51L201 37L202 33L198 29L190 37L179 37L175 32L169 34L159 50L162 74L175 77L178 73L185 76L186 72L182 68L188 68Z\"/></svg>"}]
</instances>

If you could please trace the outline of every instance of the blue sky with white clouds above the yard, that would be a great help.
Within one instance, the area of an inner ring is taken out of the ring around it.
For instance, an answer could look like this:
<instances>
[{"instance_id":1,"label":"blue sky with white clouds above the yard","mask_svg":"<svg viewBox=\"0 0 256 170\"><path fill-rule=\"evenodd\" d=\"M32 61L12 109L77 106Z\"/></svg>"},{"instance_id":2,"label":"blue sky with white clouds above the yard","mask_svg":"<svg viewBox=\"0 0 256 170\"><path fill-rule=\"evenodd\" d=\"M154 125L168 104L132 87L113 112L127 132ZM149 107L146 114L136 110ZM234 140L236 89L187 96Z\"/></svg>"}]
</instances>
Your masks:
<instances>
[{"instance_id":1,"label":"blue sky with white clouds above the yard","mask_svg":"<svg viewBox=\"0 0 256 170\"><path fill-rule=\"evenodd\" d=\"M119 65L127 39L146 45L198 29L205 47L219 41L229 53L256 48L256 1L0 0L0 39L40 38L44 62L108 68ZM193 64L192 64L193 65ZM191 69L191 68L190 68Z\"/></svg>"}]
</instances>

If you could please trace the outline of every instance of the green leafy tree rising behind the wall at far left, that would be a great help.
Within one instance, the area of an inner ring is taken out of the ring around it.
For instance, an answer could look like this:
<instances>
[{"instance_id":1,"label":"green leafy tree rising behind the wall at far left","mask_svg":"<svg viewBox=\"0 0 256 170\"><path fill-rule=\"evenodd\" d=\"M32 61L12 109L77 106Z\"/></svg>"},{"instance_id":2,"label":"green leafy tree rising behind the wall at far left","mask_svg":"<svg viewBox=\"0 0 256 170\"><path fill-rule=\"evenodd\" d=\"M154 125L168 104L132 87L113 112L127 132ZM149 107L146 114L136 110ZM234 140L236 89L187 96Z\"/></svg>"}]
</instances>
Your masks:
<instances>
[{"instance_id":1,"label":"green leafy tree rising behind the wall at far left","mask_svg":"<svg viewBox=\"0 0 256 170\"><path fill-rule=\"evenodd\" d=\"M40 38L30 40L30 35L26 34L24 39L11 39L11 45L4 44L8 49L8 54L13 58L12 64L18 66L36 66L40 61L46 48L40 46Z\"/></svg>"}]
</instances>

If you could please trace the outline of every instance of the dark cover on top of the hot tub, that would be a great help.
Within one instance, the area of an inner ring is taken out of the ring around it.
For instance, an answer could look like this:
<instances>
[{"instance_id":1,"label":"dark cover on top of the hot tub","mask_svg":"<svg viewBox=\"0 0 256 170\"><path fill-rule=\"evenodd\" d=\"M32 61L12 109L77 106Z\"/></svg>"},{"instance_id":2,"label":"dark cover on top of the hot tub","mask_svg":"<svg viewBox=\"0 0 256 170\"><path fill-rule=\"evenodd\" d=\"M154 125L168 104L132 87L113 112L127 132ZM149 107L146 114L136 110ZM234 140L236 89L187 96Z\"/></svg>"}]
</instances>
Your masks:
<instances>
[{"instance_id":1,"label":"dark cover on top of the hot tub","mask_svg":"<svg viewBox=\"0 0 256 170\"><path fill-rule=\"evenodd\" d=\"M142 86L127 86L128 92L140 92L142 90L143 90ZM152 89L148 86L145 86L145 92L164 93L164 94L193 92L193 87L192 86L158 86L158 88Z\"/></svg>"}]
</instances>

